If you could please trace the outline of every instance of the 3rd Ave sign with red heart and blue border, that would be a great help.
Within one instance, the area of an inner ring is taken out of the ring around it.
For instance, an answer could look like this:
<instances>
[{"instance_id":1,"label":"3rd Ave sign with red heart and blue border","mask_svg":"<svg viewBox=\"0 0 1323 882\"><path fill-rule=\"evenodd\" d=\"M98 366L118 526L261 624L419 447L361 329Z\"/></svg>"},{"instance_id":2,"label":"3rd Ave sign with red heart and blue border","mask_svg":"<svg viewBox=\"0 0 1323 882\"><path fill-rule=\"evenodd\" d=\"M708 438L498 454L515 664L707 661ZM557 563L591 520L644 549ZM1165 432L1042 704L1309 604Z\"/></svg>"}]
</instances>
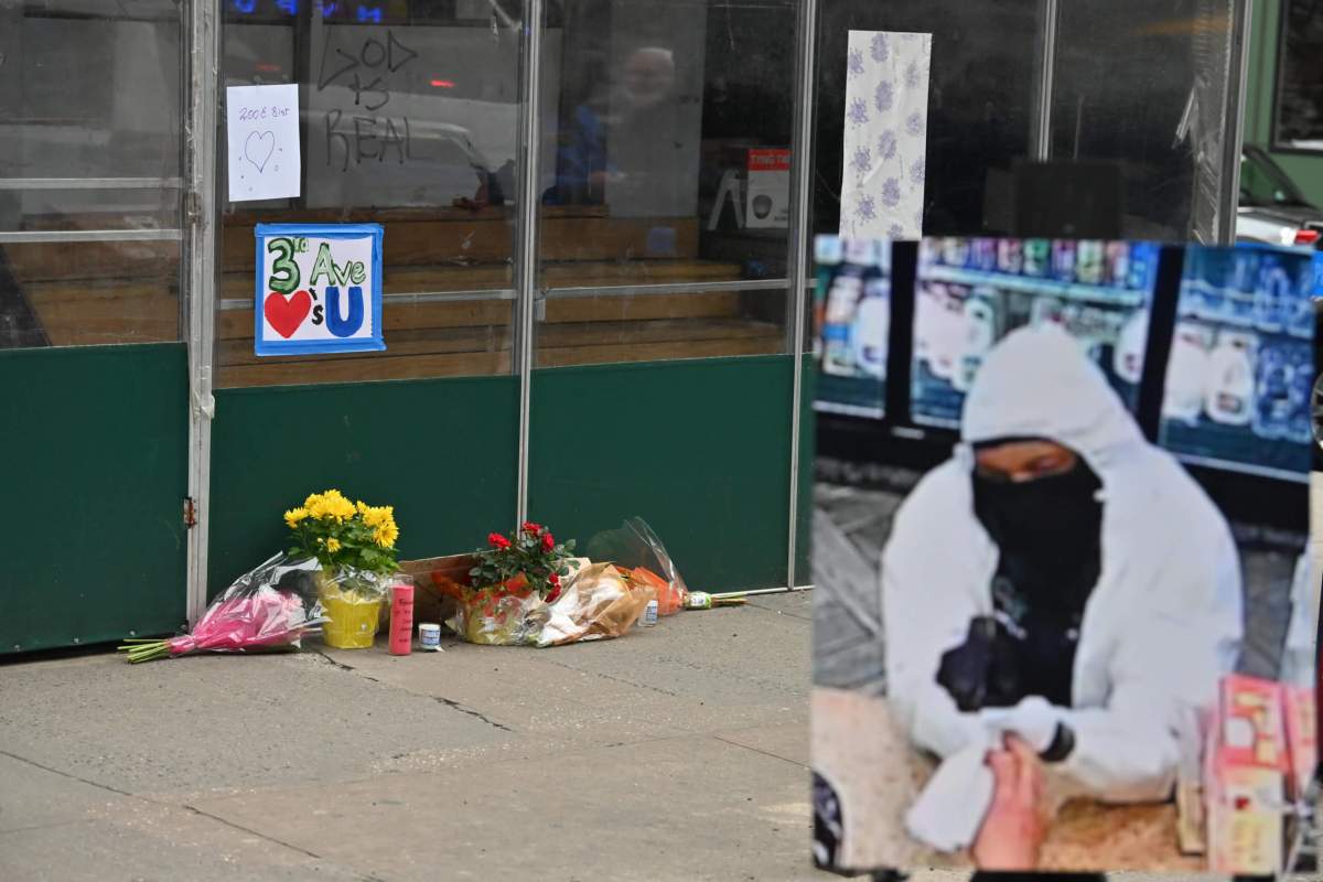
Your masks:
<instances>
[{"instance_id":1,"label":"3rd Ave sign with red heart and blue border","mask_svg":"<svg viewBox=\"0 0 1323 882\"><path fill-rule=\"evenodd\" d=\"M254 234L257 354L386 348L380 223L258 223Z\"/></svg>"}]
</instances>

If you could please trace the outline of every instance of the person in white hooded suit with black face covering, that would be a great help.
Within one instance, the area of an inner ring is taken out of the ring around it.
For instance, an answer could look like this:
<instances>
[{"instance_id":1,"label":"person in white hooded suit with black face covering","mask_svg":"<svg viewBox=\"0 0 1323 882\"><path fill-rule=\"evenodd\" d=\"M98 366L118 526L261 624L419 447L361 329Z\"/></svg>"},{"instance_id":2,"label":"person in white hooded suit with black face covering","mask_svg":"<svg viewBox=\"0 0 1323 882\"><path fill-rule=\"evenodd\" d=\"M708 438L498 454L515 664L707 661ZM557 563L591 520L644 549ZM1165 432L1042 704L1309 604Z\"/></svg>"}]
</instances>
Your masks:
<instances>
[{"instance_id":1,"label":"person in white hooded suit with black face covering","mask_svg":"<svg viewBox=\"0 0 1323 882\"><path fill-rule=\"evenodd\" d=\"M1171 799L1241 637L1226 521L1053 325L988 354L955 456L897 513L881 590L910 742L946 758L1000 739L972 848L987 870L1037 863L1045 767L1072 796Z\"/></svg>"}]
</instances>

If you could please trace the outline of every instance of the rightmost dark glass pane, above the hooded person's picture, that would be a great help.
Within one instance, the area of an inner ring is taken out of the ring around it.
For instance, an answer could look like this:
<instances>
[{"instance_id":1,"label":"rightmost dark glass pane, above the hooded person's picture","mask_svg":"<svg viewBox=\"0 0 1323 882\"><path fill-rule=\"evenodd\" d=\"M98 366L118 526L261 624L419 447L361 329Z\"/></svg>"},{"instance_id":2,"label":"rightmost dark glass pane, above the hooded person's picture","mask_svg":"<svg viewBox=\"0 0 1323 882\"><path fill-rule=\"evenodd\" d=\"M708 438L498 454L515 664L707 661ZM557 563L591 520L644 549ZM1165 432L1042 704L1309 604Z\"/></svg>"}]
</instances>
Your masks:
<instances>
[{"instance_id":1,"label":"rightmost dark glass pane, above the hooded person's picture","mask_svg":"<svg viewBox=\"0 0 1323 882\"><path fill-rule=\"evenodd\" d=\"M1061 4L1052 156L1122 169L1126 238L1217 237L1232 7Z\"/></svg>"}]
</instances>

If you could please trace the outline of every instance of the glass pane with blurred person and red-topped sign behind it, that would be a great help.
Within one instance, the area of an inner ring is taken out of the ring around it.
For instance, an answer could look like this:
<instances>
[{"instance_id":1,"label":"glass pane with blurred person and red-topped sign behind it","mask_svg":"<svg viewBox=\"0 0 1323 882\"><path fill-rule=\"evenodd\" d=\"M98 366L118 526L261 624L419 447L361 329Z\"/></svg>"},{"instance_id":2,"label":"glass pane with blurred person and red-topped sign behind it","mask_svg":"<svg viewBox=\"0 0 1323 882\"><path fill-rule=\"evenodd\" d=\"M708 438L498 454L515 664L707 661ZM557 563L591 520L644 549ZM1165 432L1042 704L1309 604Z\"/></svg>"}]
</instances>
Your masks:
<instances>
[{"instance_id":1,"label":"glass pane with blurred person and red-topped sign behind it","mask_svg":"<svg viewBox=\"0 0 1323 882\"><path fill-rule=\"evenodd\" d=\"M552 3L544 41L536 364L785 352L795 4Z\"/></svg>"}]
</instances>

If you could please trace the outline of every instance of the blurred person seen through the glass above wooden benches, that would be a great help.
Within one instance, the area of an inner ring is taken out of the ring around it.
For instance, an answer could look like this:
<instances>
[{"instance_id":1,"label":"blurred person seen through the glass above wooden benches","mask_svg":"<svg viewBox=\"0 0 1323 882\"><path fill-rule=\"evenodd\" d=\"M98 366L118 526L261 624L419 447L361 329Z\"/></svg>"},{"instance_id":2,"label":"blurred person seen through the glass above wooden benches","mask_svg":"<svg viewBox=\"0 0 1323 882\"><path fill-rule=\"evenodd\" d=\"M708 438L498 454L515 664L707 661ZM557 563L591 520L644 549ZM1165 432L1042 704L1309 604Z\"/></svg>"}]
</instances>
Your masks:
<instances>
[{"instance_id":1,"label":"blurred person seen through the glass above wooden benches","mask_svg":"<svg viewBox=\"0 0 1323 882\"><path fill-rule=\"evenodd\" d=\"M630 53L618 87L574 108L557 152L556 185L542 201L601 205L607 186L660 172L655 155L673 132L675 85L669 49L643 46Z\"/></svg>"}]
</instances>

